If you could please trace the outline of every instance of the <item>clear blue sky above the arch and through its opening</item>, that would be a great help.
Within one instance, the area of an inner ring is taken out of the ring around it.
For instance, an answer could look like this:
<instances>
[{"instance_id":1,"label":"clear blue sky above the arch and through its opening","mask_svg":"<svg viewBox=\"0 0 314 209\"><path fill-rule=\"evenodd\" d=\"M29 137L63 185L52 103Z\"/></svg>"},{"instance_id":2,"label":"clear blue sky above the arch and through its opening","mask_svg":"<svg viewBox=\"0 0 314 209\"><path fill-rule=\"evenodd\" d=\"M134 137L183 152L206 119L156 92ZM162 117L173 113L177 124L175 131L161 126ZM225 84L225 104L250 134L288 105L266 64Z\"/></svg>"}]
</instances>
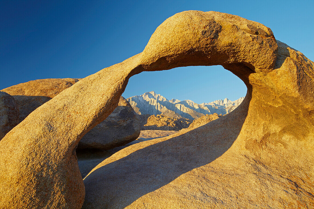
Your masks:
<instances>
[{"instance_id":1,"label":"clear blue sky above the arch and through its opening","mask_svg":"<svg viewBox=\"0 0 314 209\"><path fill-rule=\"evenodd\" d=\"M143 51L165 19L185 10L219 11L260 22L314 60L313 1L1 1L0 89L41 78L84 78ZM246 94L221 66L133 76L124 97L154 90L197 103Z\"/></svg>"}]
</instances>

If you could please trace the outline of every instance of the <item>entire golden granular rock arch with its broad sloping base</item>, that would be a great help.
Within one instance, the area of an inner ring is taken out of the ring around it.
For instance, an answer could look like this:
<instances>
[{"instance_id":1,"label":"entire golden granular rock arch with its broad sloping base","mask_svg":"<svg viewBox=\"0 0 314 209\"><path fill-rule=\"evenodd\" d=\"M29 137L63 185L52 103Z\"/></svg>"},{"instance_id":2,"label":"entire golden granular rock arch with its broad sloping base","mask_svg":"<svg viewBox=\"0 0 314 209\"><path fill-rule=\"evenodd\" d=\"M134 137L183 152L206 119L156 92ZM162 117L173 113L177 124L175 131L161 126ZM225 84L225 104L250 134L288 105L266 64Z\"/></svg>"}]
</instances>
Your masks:
<instances>
[{"instance_id":1,"label":"entire golden granular rock arch with its broad sloping base","mask_svg":"<svg viewBox=\"0 0 314 209\"><path fill-rule=\"evenodd\" d=\"M142 71L222 65L247 86L230 114L137 143L96 166L84 185L75 148ZM313 208L313 62L264 25L186 11L144 51L90 75L0 141L0 208Z\"/></svg>"}]
</instances>

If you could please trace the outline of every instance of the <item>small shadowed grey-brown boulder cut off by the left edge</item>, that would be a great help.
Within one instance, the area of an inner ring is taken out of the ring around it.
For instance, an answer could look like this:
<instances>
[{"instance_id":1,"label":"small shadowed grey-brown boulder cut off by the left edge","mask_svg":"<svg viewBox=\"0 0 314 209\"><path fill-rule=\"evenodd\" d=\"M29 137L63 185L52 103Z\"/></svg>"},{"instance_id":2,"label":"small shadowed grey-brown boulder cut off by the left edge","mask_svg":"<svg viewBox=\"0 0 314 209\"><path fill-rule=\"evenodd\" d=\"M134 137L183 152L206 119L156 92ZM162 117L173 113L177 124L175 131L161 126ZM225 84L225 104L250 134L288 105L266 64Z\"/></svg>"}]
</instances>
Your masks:
<instances>
[{"instance_id":1,"label":"small shadowed grey-brown boulder cut off by the left edge","mask_svg":"<svg viewBox=\"0 0 314 209\"><path fill-rule=\"evenodd\" d=\"M0 140L19 124L19 107L15 99L0 91Z\"/></svg>"}]
</instances>

